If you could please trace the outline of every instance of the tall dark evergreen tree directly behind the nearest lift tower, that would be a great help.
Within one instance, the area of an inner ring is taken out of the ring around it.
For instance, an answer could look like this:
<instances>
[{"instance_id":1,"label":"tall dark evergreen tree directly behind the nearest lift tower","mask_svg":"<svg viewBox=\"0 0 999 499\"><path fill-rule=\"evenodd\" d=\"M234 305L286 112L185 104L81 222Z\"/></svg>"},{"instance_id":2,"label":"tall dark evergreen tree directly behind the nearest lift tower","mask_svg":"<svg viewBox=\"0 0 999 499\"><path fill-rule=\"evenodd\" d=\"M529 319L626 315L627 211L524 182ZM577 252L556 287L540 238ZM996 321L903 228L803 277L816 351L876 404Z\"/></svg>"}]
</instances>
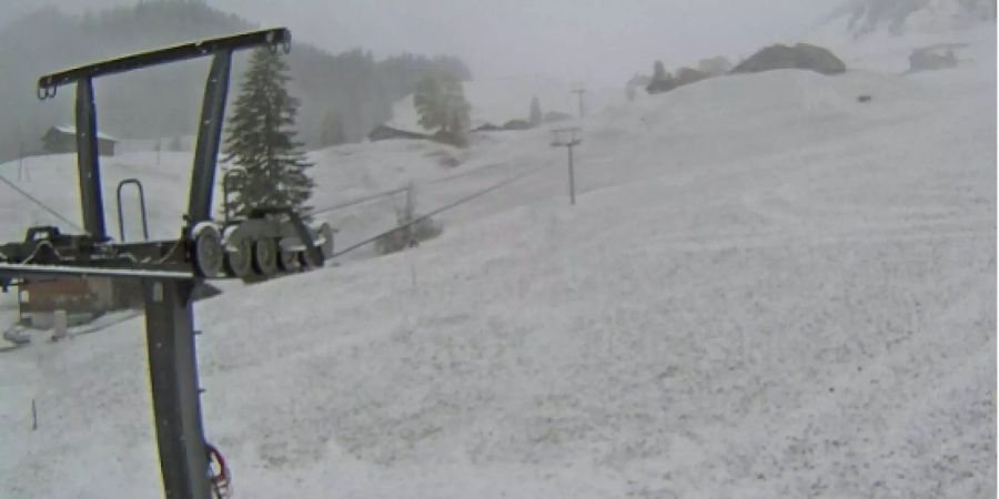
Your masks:
<instances>
[{"instance_id":1,"label":"tall dark evergreen tree directly behind the nearest lift tower","mask_svg":"<svg viewBox=\"0 0 999 499\"><path fill-rule=\"evenodd\" d=\"M258 49L250 60L229 119L224 161L231 162L233 196L225 210L245 216L258 207L305 211L314 185L312 166L295 140L299 100L287 93L287 64L279 53Z\"/></svg>"}]
</instances>

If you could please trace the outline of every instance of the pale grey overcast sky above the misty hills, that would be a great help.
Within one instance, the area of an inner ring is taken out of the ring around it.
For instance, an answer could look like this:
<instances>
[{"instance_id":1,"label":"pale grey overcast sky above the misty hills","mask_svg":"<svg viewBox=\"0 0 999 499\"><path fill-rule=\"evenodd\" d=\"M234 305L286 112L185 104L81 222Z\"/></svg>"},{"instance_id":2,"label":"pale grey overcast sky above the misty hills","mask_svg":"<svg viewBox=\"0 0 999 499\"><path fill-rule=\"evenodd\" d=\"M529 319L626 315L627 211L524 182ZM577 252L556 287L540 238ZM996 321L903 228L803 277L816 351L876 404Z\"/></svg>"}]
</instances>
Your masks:
<instances>
[{"instance_id":1,"label":"pale grey overcast sky above the misty hills","mask_svg":"<svg viewBox=\"0 0 999 499\"><path fill-rule=\"evenodd\" d=\"M3 0L4 17L49 3L80 12L137 0ZM841 0L208 0L296 40L375 55L451 53L477 78L551 73L619 85L653 61L735 60L797 41Z\"/></svg>"}]
</instances>

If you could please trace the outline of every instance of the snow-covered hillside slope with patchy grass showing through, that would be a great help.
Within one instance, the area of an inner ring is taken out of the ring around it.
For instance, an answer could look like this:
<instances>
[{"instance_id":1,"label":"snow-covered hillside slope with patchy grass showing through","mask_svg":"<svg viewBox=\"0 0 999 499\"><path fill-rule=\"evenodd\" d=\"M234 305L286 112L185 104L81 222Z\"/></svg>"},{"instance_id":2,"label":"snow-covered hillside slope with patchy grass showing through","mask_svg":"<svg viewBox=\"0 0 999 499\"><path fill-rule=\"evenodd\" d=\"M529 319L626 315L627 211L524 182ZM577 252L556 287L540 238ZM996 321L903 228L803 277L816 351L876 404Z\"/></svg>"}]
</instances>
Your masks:
<instances>
[{"instance_id":1,"label":"snow-covered hillside slope with patchy grass showing through","mask_svg":"<svg viewBox=\"0 0 999 499\"><path fill-rule=\"evenodd\" d=\"M315 153L333 203L552 167L414 251L199 303L235 497L995 497L991 55L608 109L575 207L544 130ZM0 496L160 497L141 320L0 357Z\"/></svg>"}]
</instances>

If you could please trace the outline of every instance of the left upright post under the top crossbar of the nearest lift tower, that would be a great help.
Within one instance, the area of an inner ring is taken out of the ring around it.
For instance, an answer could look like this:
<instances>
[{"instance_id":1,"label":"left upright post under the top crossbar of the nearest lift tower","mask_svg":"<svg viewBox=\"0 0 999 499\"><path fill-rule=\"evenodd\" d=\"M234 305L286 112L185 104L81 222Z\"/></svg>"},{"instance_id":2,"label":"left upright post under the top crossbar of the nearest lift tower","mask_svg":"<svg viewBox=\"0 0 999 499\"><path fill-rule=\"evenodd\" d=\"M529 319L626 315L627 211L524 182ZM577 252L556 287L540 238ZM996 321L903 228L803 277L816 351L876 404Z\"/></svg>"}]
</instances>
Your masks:
<instances>
[{"instance_id":1,"label":"left upright post under the top crossbar of the nearest lift tower","mask_svg":"<svg viewBox=\"0 0 999 499\"><path fill-rule=\"evenodd\" d=\"M104 202L101 196L101 164L98 157L97 106L93 82L77 82L77 171L80 179L80 204L83 230L98 241L105 241Z\"/></svg>"}]
</instances>

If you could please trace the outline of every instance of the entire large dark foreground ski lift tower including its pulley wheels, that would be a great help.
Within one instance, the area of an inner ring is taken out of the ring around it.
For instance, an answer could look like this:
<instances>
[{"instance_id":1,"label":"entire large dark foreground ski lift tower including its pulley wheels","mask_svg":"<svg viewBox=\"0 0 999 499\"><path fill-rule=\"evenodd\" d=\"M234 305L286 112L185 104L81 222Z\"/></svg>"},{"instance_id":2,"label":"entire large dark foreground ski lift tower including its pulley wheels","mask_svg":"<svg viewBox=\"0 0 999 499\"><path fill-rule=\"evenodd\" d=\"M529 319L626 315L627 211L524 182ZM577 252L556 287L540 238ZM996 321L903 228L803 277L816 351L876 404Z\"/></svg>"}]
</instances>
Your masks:
<instances>
[{"instance_id":1,"label":"entire large dark foreground ski lift tower including its pulley wheels","mask_svg":"<svg viewBox=\"0 0 999 499\"><path fill-rule=\"evenodd\" d=\"M243 220L226 216L222 223L211 217L232 54L258 47L287 51L291 32L275 28L183 43L41 77L38 96L42 100L54 96L61 86L77 85L77 167L85 234L64 234L56 226L31 227L23 241L0 244L0 286L4 291L12 284L53 277L142 282L153 415L168 499L209 499L224 485L219 476L210 476L210 459L218 451L205 442L202 428L192 314L195 287L205 278L246 278L253 269L321 266L333 251L329 225L309 227L286 206L260 208ZM114 242L104 225L93 80L202 57L211 57L212 64L180 238ZM275 262L278 257L282 262ZM292 259L299 264L292 265ZM228 479L228 471L221 473Z\"/></svg>"}]
</instances>

